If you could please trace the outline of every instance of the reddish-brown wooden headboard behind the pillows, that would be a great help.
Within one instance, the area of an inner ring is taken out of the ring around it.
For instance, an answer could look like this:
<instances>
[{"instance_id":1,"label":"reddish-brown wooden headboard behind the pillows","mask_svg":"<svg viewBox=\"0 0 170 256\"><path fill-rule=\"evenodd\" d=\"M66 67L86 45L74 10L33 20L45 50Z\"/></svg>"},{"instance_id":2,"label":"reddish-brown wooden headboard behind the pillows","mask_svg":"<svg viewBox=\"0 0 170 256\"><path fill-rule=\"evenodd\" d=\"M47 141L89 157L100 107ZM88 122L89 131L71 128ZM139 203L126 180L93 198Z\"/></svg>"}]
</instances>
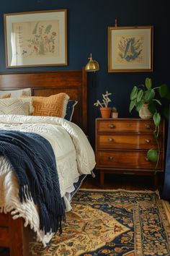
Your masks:
<instances>
[{"instance_id":1,"label":"reddish-brown wooden headboard behind the pillows","mask_svg":"<svg viewBox=\"0 0 170 256\"><path fill-rule=\"evenodd\" d=\"M0 73L0 90L32 88L32 95L49 96L67 93L71 100L78 101L72 121L86 133L87 124L87 80L81 70L6 72Z\"/></svg>"}]
</instances>

